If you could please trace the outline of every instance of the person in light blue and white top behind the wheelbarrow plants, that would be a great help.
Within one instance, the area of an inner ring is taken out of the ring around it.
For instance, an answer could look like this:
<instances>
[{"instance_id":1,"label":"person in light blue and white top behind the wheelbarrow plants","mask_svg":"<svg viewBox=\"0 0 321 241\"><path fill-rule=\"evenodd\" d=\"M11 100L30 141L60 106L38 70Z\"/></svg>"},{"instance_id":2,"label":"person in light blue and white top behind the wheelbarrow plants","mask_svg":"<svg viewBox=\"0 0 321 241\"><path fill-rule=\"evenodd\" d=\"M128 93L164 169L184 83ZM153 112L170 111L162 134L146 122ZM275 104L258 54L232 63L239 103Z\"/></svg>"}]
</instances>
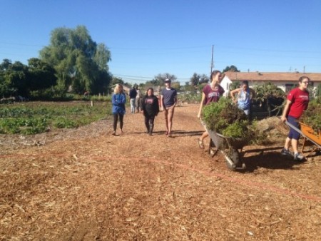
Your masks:
<instances>
[{"instance_id":1,"label":"person in light blue and white top behind the wheelbarrow plants","mask_svg":"<svg viewBox=\"0 0 321 241\"><path fill-rule=\"evenodd\" d=\"M235 98L237 94L237 98ZM248 86L248 81L243 81L240 88L230 91L230 97L234 103L238 103L238 108L243 110L248 119L251 120L251 99L255 96L253 88Z\"/></svg>"}]
</instances>

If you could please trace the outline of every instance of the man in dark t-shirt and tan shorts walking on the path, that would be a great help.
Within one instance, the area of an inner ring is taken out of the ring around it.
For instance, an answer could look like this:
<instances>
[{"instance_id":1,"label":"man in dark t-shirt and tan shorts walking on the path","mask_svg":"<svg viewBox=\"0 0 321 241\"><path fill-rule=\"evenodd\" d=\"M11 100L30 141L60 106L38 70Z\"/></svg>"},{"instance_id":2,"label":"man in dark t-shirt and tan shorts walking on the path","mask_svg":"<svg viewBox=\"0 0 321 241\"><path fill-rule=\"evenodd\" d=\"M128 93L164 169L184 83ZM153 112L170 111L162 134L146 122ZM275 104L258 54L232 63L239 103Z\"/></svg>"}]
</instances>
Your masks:
<instances>
[{"instance_id":1,"label":"man in dark t-shirt and tan shorts walking on the path","mask_svg":"<svg viewBox=\"0 0 321 241\"><path fill-rule=\"evenodd\" d=\"M177 104L177 91L172 88L170 79L165 79L165 88L161 92L161 109L165 115L166 135L172 137L173 116Z\"/></svg>"}]
</instances>

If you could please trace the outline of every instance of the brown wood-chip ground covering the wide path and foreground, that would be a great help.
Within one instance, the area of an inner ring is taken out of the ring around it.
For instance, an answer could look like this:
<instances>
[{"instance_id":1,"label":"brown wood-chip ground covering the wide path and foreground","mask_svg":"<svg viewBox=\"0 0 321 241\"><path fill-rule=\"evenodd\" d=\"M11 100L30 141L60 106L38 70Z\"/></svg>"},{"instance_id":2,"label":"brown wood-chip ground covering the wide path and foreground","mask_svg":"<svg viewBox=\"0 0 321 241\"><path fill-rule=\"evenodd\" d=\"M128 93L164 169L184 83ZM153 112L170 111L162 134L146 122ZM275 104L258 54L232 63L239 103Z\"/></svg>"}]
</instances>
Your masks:
<instances>
[{"instance_id":1,"label":"brown wood-chip ground covering the wide path and foreground","mask_svg":"<svg viewBox=\"0 0 321 241\"><path fill-rule=\"evenodd\" d=\"M197 105L163 113L146 134L140 113L113 136L107 118L75 130L0 135L0 240L321 240L321 157L284 158L287 130L260 121L245 170L198 147Z\"/></svg>"}]
</instances>

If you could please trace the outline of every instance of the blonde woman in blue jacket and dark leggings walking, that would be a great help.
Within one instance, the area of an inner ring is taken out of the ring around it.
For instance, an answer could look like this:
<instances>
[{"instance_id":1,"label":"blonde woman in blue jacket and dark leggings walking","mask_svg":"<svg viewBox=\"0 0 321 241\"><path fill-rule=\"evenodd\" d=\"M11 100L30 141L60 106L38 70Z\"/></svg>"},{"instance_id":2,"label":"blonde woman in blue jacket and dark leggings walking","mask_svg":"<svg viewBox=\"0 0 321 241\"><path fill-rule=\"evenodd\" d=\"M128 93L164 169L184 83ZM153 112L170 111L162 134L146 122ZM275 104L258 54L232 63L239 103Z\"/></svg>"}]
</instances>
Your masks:
<instances>
[{"instance_id":1,"label":"blonde woman in blue jacket and dark leggings walking","mask_svg":"<svg viewBox=\"0 0 321 241\"><path fill-rule=\"evenodd\" d=\"M118 83L113 91L113 96L111 98L111 103L113 104L113 135L116 135L116 128L119 116L119 123L121 127L121 133L123 134L123 116L126 113L125 103L126 95L123 93L123 86Z\"/></svg>"}]
</instances>

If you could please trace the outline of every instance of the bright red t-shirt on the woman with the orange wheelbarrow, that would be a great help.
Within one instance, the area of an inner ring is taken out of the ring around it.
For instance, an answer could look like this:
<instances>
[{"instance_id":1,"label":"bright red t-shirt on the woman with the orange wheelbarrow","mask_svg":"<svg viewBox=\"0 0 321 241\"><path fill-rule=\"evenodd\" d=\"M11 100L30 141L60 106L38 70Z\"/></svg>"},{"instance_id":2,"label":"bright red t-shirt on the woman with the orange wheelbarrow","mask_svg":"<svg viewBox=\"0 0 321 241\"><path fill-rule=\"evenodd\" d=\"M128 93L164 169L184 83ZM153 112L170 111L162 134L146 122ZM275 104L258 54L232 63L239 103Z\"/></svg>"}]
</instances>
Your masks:
<instances>
[{"instance_id":1,"label":"bright red t-shirt on the woman with the orange wheelbarrow","mask_svg":"<svg viewBox=\"0 0 321 241\"><path fill-rule=\"evenodd\" d=\"M309 92L301 91L300 88L294 88L287 95L287 99L291 101L289 116L300 118L309 104Z\"/></svg>"}]
</instances>

